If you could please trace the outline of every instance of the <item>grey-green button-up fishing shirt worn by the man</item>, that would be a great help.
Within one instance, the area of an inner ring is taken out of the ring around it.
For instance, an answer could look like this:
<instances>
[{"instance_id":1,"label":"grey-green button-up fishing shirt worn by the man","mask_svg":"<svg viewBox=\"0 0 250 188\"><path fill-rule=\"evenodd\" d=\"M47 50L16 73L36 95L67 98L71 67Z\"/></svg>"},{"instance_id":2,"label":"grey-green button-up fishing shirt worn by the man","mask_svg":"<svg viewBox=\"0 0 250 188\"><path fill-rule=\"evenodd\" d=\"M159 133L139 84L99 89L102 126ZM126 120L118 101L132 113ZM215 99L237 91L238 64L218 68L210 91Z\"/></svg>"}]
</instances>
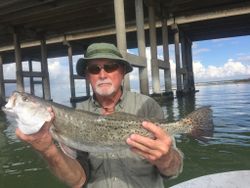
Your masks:
<instances>
[{"instance_id":1,"label":"grey-green button-up fishing shirt worn by the man","mask_svg":"<svg viewBox=\"0 0 250 188\"><path fill-rule=\"evenodd\" d=\"M101 114L99 103L90 97L79 103L79 109ZM124 91L115 111L146 118L163 119L159 104L152 98ZM67 151L66 151L67 152ZM157 168L129 149L112 153L88 153L78 151L76 158L88 177L89 188L163 188L163 176Z\"/></svg>"}]
</instances>

